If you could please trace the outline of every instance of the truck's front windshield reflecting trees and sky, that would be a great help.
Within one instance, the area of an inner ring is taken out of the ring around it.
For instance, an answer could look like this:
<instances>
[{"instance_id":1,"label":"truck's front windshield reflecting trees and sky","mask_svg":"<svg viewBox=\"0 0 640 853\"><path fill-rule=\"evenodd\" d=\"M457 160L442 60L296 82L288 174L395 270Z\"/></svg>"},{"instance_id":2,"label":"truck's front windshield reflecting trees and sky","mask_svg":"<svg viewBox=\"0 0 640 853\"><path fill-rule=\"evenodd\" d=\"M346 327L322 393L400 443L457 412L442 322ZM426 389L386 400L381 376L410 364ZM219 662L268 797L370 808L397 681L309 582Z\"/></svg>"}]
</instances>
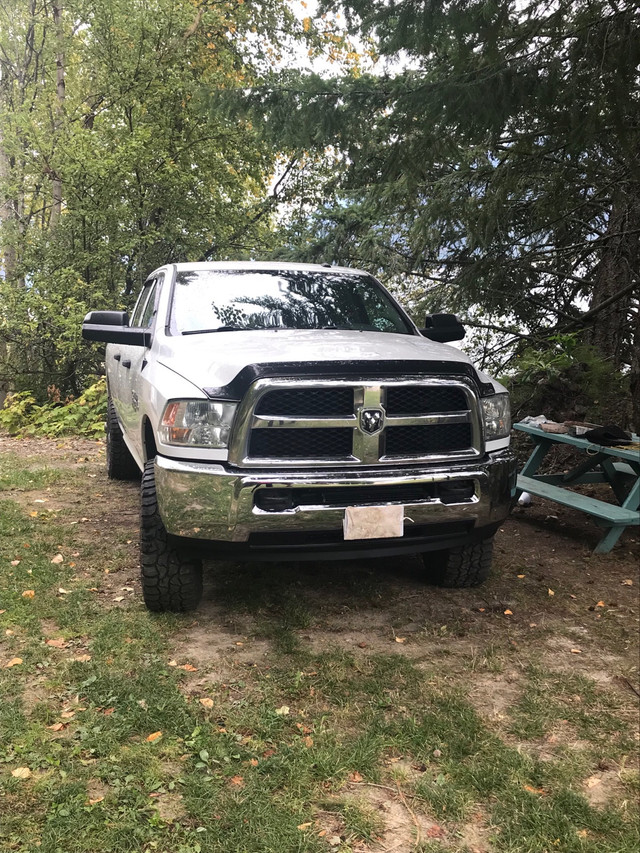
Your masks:
<instances>
[{"instance_id":1,"label":"truck's front windshield reflecting trees and sky","mask_svg":"<svg viewBox=\"0 0 640 853\"><path fill-rule=\"evenodd\" d=\"M174 334L249 329L354 329L414 334L370 276L299 270L183 270Z\"/></svg>"}]
</instances>

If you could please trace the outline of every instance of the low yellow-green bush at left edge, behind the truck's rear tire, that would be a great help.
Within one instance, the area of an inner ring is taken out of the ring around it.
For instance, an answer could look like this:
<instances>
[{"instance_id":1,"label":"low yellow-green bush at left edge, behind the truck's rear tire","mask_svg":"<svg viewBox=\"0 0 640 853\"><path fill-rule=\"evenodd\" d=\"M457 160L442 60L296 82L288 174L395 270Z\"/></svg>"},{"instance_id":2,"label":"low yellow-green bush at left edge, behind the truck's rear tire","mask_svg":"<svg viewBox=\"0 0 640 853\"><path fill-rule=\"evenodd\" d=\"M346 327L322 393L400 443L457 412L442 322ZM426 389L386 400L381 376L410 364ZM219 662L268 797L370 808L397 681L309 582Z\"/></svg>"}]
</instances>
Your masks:
<instances>
[{"instance_id":1,"label":"low yellow-green bush at left edge, behind the truck's rear tire","mask_svg":"<svg viewBox=\"0 0 640 853\"><path fill-rule=\"evenodd\" d=\"M31 391L9 394L0 410L0 428L11 435L86 435L96 438L104 432L107 412L107 385L104 378L74 399L62 401L55 386L48 389L49 401L38 405Z\"/></svg>"}]
</instances>

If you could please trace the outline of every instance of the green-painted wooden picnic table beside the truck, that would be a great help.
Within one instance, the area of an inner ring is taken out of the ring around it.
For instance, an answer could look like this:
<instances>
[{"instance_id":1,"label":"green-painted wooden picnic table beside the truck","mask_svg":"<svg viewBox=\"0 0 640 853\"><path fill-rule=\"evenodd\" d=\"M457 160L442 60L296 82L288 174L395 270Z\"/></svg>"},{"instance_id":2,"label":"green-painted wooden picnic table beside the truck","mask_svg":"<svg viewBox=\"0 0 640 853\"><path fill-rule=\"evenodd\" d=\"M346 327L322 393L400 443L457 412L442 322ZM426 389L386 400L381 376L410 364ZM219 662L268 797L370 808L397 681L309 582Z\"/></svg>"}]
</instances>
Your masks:
<instances>
[{"instance_id":1,"label":"green-painted wooden picnic table beside the truck","mask_svg":"<svg viewBox=\"0 0 640 853\"><path fill-rule=\"evenodd\" d=\"M594 553L608 554L625 527L640 525L640 439L627 447L604 447L584 438L563 433L549 433L530 424L514 424L514 429L527 433L534 448L522 472L517 490L586 512L595 518L606 533ZM538 474L542 461L552 447L567 444L585 458L570 471ZM587 497L569 486L584 483L608 483L617 504Z\"/></svg>"}]
</instances>

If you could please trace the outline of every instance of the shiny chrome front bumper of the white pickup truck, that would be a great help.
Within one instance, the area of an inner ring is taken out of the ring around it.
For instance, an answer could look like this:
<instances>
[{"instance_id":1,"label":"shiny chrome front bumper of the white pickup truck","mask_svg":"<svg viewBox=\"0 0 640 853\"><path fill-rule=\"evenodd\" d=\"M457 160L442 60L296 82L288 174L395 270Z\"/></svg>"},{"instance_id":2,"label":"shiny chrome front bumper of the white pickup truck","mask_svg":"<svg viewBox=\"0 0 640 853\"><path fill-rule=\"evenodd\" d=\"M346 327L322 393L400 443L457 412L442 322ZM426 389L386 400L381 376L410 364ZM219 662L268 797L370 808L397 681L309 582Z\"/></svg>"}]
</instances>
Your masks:
<instances>
[{"instance_id":1,"label":"shiny chrome front bumper of the white pickup truck","mask_svg":"<svg viewBox=\"0 0 640 853\"><path fill-rule=\"evenodd\" d=\"M326 493L332 487L473 481L474 494L460 503L438 498L404 503L405 531L412 525L449 522L466 522L477 531L506 518L515 494L516 463L509 451L500 451L480 461L393 471L229 471L218 464L157 456L155 475L160 515L170 534L229 543L246 543L253 534L281 534L285 542L287 534L342 530L344 506L333 502L265 511L256 506L259 489L317 487Z\"/></svg>"}]
</instances>

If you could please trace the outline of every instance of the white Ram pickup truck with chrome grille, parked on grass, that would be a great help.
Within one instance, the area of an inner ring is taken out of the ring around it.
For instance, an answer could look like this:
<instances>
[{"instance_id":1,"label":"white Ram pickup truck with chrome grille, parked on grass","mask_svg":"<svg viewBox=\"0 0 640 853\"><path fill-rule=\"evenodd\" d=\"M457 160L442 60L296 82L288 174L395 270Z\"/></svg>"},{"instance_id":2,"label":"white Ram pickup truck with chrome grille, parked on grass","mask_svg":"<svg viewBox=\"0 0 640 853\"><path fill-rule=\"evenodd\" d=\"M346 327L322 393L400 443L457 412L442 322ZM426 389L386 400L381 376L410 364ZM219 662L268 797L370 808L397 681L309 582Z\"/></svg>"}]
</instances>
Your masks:
<instances>
[{"instance_id":1,"label":"white Ram pickup truck with chrome grille, parked on grass","mask_svg":"<svg viewBox=\"0 0 640 853\"><path fill-rule=\"evenodd\" d=\"M170 264L108 343L107 470L142 472L141 567L155 611L197 607L202 558L422 553L481 583L515 490L509 398L419 330L372 276L280 262Z\"/></svg>"}]
</instances>

